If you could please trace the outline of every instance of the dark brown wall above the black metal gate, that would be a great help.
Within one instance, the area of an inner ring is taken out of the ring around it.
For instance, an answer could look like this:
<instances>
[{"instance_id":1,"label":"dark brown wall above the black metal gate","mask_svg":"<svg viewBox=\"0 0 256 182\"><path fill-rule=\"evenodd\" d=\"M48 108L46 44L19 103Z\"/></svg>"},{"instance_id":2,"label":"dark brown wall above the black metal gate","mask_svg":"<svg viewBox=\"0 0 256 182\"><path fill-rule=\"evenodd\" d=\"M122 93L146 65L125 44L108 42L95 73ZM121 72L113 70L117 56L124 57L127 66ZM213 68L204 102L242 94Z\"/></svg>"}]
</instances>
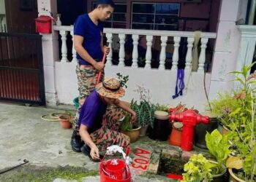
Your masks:
<instances>
[{"instance_id":1,"label":"dark brown wall above the black metal gate","mask_svg":"<svg viewBox=\"0 0 256 182\"><path fill-rule=\"evenodd\" d=\"M31 1L31 6L23 9L20 0L5 1L7 13L7 31L19 33L35 33L34 19L37 17L37 0ZM31 8L30 8L31 7Z\"/></svg>"}]
</instances>

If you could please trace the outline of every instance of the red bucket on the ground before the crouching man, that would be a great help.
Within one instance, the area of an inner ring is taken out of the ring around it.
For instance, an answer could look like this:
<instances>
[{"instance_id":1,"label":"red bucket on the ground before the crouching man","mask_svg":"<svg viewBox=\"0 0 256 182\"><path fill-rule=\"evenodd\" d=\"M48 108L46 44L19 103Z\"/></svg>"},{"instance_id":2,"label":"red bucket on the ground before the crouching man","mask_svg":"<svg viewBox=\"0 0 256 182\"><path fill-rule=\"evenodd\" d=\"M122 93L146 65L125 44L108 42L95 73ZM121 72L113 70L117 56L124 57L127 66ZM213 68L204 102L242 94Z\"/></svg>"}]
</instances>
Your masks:
<instances>
[{"instance_id":1,"label":"red bucket on the ground before the crouching man","mask_svg":"<svg viewBox=\"0 0 256 182\"><path fill-rule=\"evenodd\" d=\"M113 160L116 160L116 165L113 165ZM101 162L99 173L101 182L131 181L129 167L121 159L109 159Z\"/></svg>"}]
</instances>

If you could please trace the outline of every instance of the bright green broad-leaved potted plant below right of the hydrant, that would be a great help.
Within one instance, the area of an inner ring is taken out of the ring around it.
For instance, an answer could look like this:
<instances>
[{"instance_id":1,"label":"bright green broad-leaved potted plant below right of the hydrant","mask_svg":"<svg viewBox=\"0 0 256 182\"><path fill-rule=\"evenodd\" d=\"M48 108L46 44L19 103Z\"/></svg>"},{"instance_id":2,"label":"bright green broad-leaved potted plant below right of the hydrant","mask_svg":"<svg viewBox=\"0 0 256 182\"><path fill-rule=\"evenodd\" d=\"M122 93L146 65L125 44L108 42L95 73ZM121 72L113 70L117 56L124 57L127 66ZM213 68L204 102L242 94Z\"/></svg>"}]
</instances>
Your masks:
<instances>
[{"instance_id":1,"label":"bright green broad-leaved potted plant below right of the hydrant","mask_svg":"<svg viewBox=\"0 0 256 182\"><path fill-rule=\"evenodd\" d=\"M214 167L214 175L222 173L225 170L225 161L230 154L230 144L228 143L227 135L222 136L219 130L206 133L206 146L212 156L217 160L217 165Z\"/></svg>"}]
</instances>

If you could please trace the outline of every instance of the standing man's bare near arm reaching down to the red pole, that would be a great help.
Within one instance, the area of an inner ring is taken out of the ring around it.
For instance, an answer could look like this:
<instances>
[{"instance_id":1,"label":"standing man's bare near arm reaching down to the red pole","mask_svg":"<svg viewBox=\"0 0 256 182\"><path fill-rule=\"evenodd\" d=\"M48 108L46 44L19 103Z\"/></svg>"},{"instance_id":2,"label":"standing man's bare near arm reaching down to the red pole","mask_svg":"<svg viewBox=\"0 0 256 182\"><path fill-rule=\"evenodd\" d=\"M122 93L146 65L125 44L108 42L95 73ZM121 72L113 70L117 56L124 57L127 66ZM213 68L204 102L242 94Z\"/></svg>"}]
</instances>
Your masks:
<instances>
[{"instance_id":1,"label":"standing man's bare near arm reaching down to the red pole","mask_svg":"<svg viewBox=\"0 0 256 182\"><path fill-rule=\"evenodd\" d=\"M95 61L93 58L91 58L91 55L89 55L89 53L83 48L83 36L74 36L74 47L76 52L78 52L78 55L80 55L83 60L86 60L88 63L94 66L94 68L99 71L104 68L103 63Z\"/></svg>"}]
</instances>

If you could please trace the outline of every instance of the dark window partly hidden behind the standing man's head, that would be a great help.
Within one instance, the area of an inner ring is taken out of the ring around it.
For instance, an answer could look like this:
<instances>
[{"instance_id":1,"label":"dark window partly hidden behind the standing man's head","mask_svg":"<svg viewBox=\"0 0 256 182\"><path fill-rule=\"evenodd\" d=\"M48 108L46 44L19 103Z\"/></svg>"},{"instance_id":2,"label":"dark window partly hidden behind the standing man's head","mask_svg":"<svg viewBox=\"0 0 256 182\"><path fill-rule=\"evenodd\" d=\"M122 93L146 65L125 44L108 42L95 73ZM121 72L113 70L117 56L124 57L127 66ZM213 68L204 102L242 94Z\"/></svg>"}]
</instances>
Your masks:
<instances>
[{"instance_id":1,"label":"dark window partly hidden behind the standing man's head","mask_svg":"<svg viewBox=\"0 0 256 182\"><path fill-rule=\"evenodd\" d=\"M92 4L93 9L96 3ZM106 28L126 28L127 23L127 4L116 3L115 11L108 20L103 22Z\"/></svg>"}]
</instances>

